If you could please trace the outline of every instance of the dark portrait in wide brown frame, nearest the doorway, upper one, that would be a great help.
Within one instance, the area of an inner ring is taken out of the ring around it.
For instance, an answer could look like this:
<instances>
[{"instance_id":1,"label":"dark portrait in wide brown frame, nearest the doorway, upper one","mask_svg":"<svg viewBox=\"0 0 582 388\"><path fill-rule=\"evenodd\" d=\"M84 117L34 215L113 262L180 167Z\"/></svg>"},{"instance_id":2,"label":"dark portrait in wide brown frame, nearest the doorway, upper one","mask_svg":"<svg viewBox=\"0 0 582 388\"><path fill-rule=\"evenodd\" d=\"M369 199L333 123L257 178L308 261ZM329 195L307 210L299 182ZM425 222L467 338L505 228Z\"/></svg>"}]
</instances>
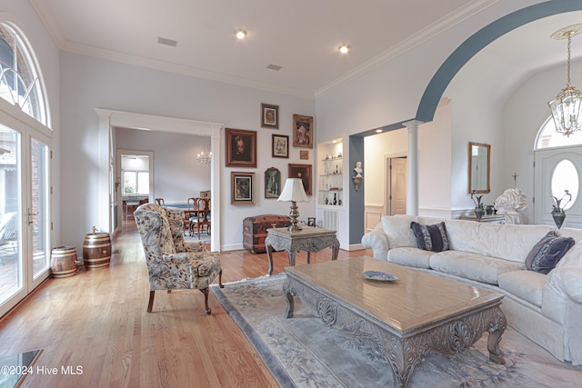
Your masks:
<instances>
[{"instance_id":1,"label":"dark portrait in wide brown frame, nearest the doorway, upper one","mask_svg":"<svg viewBox=\"0 0 582 388\"><path fill-rule=\"evenodd\" d=\"M256 131L226 128L226 167L256 167Z\"/></svg>"}]
</instances>

